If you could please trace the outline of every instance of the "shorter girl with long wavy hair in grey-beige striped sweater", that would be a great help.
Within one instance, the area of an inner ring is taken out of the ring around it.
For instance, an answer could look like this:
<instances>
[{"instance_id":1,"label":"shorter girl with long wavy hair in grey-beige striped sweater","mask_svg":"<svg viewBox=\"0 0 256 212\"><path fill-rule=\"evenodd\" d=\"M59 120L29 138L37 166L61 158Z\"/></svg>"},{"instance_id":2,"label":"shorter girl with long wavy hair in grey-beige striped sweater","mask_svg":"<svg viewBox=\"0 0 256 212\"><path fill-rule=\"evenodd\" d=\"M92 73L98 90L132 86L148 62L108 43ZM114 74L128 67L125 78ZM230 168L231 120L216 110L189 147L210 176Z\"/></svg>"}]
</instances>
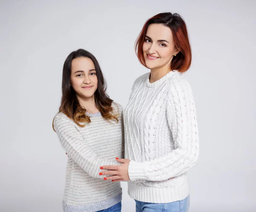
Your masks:
<instances>
[{"instance_id":1,"label":"shorter girl with long wavy hair in grey-beige striped sweater","mask_svg":"<svg viewBox=\"0 0 256 212\"><path fill-rule=\"evenodd\" d=\"M122 107L105 93L96 58L83 49L64 62L62 98L53 120L67 161L64 212L120 212L122 189L99 173L123 157Z\"/></svg>"}]
</instances>

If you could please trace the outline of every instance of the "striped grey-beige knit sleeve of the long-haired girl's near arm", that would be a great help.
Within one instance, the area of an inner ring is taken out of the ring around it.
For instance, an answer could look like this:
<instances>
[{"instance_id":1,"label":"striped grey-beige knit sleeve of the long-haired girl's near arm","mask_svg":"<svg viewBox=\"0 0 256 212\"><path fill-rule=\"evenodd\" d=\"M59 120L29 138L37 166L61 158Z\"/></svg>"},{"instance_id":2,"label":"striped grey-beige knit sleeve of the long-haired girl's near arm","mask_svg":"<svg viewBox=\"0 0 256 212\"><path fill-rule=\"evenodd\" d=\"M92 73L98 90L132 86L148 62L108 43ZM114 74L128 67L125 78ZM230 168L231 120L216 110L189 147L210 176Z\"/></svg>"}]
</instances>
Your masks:
<instances>
[{"instance_id":1,"label":"striped grey-beige knit sleeve of the long-haired girl's near arm","mask_svg":"<svg viewBox=\"0 0 256 212\"><path fill-rule=\"evenodd\" d=\"M75 123L64 114L57 114L54 119L54 128L66 153L79 166L94 178L104 178L99 175L101 166L118 165L116 161L97 157L96 153L88 147Z\"/></svg>"}]
</instances>

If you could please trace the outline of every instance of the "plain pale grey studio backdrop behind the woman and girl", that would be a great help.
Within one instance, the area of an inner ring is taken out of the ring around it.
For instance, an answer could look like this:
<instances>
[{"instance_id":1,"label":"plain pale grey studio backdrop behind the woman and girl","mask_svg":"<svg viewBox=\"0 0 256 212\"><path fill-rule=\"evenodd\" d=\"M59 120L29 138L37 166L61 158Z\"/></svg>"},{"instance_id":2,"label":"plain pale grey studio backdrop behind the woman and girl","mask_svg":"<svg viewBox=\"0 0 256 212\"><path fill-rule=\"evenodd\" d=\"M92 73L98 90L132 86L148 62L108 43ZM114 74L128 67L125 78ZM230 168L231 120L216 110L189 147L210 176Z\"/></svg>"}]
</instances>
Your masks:
<instances>
[{"instance_id":1,"label":"plain pale grey studio backdrop behind the woman and girl","mask_svg":"<svg viewBox=\"0 0 256 212\"><path fill-rule=\"evenodd\" d=\"M134 41L163 11L188 26L200 159L189 170L189 212L256 211L256 1L0 2L0 211L61 212L67 155L52 130L62 66L78 48L102 67L123 107L138 76ZM122 183L122 211L135 211Z\"/></svg>"}]
</instances>

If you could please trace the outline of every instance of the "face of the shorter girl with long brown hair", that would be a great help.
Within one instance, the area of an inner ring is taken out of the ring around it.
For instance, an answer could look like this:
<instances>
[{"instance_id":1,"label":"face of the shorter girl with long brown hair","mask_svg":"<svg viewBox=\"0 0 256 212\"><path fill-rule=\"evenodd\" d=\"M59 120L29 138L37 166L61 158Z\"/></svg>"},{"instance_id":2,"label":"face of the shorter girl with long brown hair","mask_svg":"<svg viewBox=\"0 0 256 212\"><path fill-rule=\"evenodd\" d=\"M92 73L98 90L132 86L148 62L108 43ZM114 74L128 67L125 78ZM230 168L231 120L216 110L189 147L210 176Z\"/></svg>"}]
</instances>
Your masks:
<instances>
[{"instance_id":1,"label":"face of the shorter girl with long brown hair","mask_svg":"<svg viewBox=\"0 0 256 212\"><path fill-rule=\"evenodd\" d=\"M98 88L93 61L88 57L78 57L71 62L71 86L81 98L93 98Z\"/></svg>"}]
</instances>

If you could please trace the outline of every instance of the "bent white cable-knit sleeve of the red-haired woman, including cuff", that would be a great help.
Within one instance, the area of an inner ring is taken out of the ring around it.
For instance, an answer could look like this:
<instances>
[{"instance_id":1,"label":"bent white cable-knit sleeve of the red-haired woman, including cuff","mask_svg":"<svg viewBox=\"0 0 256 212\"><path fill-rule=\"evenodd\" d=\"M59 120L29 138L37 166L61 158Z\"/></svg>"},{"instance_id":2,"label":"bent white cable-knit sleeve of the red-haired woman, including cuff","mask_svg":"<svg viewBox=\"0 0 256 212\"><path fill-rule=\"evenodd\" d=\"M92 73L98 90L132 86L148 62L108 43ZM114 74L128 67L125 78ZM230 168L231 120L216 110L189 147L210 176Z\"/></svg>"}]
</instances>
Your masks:
<instances>
[{"instance_id":1,"label":"bent white cable-knit sleeve of the red-haired woman, including cuff","mask_svg":"<svg viewBox=\"0 0 256 212\"><path fill-rule=\"evenodd\" d=\"M189 83L177 77L170 85L166 115L175 149L151 161L130 161L130 180L164 181L189 170L199 158L195 103Z\"/></svg>"}]
</instances>

